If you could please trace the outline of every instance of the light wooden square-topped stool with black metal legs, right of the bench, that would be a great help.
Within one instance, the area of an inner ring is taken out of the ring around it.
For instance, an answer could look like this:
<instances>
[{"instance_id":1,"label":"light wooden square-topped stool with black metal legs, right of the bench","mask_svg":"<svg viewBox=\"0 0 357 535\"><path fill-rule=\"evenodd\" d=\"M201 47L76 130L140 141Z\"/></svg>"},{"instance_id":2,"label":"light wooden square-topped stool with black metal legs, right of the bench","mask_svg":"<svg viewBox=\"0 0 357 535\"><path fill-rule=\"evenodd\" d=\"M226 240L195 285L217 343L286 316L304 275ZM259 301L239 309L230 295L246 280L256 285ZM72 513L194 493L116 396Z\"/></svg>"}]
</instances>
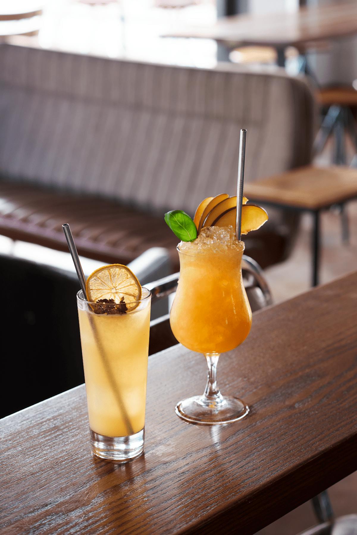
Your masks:
<instances>
[{"instance_id":1,"label":"light wooden square-topped stool with black metal legs, right of the bench","mask_svg":"<svg viewBox=\"0 0 357 535\"><path fill-rule=\"evenodd\" d=\"M309 212L312 215L312 286L316 286L320 266L321 211L335 204L343 205L357 197L357 169L343 165L299 167L273 177L248 182L244 194L257 204Z\"/></svg>"}]
</instances>

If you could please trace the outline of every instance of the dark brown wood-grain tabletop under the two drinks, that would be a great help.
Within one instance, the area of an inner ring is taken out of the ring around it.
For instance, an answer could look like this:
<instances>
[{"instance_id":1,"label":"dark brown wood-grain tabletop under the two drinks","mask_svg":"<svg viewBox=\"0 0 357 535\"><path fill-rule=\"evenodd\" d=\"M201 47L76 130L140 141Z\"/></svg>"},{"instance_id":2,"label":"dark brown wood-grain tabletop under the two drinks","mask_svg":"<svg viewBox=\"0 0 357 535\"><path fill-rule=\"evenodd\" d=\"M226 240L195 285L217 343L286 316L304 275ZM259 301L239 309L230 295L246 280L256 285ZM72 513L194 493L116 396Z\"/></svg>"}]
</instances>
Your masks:
<instances>
[{"instance_id":1,"label":"dark brown wood-grain tabletop under the two drinks","mask_svg":"<svg viewBox=\"0 0 357 535\"><path fill-rule=\"evenodd\" d=\"M203 391L201 355L151 356L145 455L126 464L91 455L83 386L4 418L1 532L248 535L312 498L357 469L356 311L357 272L256 312L218 364L251 409L226 426L174 414Z\"/></svg>"}]
</instances>

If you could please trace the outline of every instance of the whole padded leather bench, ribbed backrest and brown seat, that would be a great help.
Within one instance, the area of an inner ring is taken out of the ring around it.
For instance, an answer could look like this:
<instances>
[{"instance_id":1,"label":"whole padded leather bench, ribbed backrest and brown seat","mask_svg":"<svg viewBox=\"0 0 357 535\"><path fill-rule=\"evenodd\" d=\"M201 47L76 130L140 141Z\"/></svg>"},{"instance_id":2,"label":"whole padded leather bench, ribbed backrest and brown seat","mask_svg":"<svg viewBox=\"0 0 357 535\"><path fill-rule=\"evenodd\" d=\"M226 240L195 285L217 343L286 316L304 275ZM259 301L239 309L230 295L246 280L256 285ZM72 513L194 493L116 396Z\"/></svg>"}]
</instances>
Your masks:
<instances>
[{"instance_id":1,"label":"whole padded leather bench, ribbed backrest and brown seat","mask_svg":"<svg viewBox=\"0 0 357 535\"><path fill-rule=\"evenodd\" d=\"M306 165L314 100L305 81L249 67L152 65L0 46L0 233L127 264L176 237L163 213L193 215L237 189L240 128L246 181ZM265 266L290 252L299 216L270 209L246 241Z\"/></svg>"}]
</instances>

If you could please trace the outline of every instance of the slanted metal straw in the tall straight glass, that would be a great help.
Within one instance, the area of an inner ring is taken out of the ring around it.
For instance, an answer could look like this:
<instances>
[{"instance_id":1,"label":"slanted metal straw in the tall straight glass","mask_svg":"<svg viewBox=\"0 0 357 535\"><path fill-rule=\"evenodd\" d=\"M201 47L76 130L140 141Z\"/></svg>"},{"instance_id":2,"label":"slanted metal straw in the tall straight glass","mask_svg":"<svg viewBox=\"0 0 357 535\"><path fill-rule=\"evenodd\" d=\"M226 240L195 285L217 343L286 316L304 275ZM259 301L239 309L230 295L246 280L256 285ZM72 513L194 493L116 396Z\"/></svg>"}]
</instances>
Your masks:
<instances>
[{"instance_id":1,"label":"slanted metal straw in the tall straight glass","mask_svg":"<svg viewBox=\"0 0 357 535\"><path fill-rule=\"evenodd\" d=\"M70 249L70 253L71 253L71 256L72 256L72 260L73 260L73 264L74 264L74 267L75 267L75 271L77 271L77 275L78 275L79 283L80 283L81 288L82 288L83 296L84 296L85 299L87 299L86 278L85 278L84 273L83 273L83 269L82 269L82 265L81 265L81 262L80 262L80 259L79 259L77 247L75 247L75 243L74 243L74 240L73 240L73 235L72 235L72 232L71 232L71 229L70 229L70 225L68 223L65 223L64 225L62 225L62 228L63 228L63 232L64 232L64 234L66 236L68 247ZM134 433L132 423L131 423L130 418L128 416L128 413L127 413L127 410L126 410L126 407L125 407L125 403L123 402L123 399L121 398L120 392L119 392L117 384L116 384L116 380L114 378L113 371L111 370L110 362L109 362L109 360L107 358L107 355L105 355L103 344L102 344L102 342L101 342L101 340L99 338L99 334L98 334L97 328L95 326L95 323L94 323L93 318L92 318L91 315L89 315L89 323L90 323L90 326L92 327L93 334L94 334L94 339L96 341L99 353L102 356L104 369L105 369L105 372L107 373L107 377L108 377L109 383L111 384L111 387L113 389L113 392L114 392L114 395L115 395L119 410L121 411L121 414L123 415L123 419L125 421L125 424L126 424L126 427L127 427L127 430L128 430L128 434L132 435Z\"/></svg>"}]
</instances>

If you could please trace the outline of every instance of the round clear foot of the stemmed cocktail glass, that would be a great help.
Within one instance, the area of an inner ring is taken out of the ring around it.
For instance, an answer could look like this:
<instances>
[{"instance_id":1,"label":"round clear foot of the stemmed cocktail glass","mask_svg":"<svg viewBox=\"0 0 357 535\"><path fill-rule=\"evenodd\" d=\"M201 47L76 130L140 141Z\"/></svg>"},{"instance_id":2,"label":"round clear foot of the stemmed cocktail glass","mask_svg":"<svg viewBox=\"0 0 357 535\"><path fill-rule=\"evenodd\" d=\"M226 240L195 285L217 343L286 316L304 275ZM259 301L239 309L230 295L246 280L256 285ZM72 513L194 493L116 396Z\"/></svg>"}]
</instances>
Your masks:
<instances>
[{"instance_id":1,"label":"round clear foot of the stemmed cocktail glass","mask_svg":"<svg viewBox=\"0 0 357 535\"><path fill-rule=\"evenodd\" d=\"M223 398L219 395L217 401L205 399L203 396L193 396L180 401L175 407L176 414L192 424L217 425L237 422L249 412L249 407L239 398Z\"/></svg>"}]
</instances>

